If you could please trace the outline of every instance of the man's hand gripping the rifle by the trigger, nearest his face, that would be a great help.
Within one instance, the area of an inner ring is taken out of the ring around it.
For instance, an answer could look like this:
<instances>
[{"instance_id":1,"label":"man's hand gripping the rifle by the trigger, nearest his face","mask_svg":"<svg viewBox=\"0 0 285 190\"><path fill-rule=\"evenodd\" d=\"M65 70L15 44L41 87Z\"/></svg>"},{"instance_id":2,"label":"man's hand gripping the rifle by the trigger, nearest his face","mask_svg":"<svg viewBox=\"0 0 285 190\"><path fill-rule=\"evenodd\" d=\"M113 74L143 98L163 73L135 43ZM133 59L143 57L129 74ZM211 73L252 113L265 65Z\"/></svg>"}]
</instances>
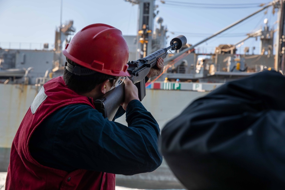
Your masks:
<instances>
[{"instance_id":1,"label":"man's hand gripping the rifle by the trigger, nearest his face","mask_svg":"<svg viewBox=\"0 0 285 190\"><path fill-rule=\"evenodd\" d=\"M133 82L128 77L124 80L124 83L125 83L125 100L123 103L121 103L121 106L123 107L124 110L126 110L130 101L139 100L139 92L136 85L134 85Z\"/></svg>"}]
</instances>

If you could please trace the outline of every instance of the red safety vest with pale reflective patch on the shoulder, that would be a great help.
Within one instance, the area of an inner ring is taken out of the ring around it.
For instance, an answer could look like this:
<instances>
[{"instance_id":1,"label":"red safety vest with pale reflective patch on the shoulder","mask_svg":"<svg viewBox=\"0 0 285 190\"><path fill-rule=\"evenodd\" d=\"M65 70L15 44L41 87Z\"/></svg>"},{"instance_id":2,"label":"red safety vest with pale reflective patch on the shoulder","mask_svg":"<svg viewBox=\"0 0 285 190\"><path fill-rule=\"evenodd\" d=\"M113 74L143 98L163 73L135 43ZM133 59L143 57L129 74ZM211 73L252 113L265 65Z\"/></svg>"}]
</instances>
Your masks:
<instances>
[{"instance_id":1,"label":"red safety vest with pale reflective patch on the shoulder","mask_svg":"<svg viewBox=\"0 0 285 190\"><path fill-rule=\"evenodd\" d=\"M85 169L69 173L42 166L29 151L32 133L50 114L76 103L84 103L95 109L92 102L92 99L68 89L62 77L44 84L13 140L5 189L115 189L115 174Z\"/></svg>"}]
</instances>

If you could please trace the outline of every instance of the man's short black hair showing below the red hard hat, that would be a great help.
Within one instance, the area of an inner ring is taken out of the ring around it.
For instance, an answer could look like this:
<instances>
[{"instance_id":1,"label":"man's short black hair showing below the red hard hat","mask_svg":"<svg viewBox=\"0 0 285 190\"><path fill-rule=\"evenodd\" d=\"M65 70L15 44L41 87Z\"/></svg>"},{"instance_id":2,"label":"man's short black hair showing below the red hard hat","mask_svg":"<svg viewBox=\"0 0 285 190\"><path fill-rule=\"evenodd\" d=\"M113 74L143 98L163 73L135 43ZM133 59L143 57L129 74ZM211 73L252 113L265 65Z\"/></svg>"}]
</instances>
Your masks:
<instances>
[{"instance_id":1,"label":"man's short black hair showing below the red hard hat","mask_svg":"<svg viewBox=\"0 0 285 190\"><path fill-rule=\"evenodd\" d=\"M82 67L70 59L66 58L67 62L76 67ZM93 73L91 75L75 75L64 68L63 79L68 88L72 89L78 94L87 93L93 90L97 85L101 84L107 79L113 78L111 75L103 73Z\"/></svg>"}]
</instances>

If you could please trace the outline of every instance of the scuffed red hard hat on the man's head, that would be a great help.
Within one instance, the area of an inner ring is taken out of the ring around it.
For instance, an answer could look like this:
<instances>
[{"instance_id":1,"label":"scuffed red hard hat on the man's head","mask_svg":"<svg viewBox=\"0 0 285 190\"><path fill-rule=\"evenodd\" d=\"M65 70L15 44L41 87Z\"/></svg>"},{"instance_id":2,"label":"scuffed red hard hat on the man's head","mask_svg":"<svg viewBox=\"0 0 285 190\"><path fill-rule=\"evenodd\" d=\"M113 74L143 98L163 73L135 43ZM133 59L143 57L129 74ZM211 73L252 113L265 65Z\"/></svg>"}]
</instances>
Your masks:
<instances>
[{"instance_id":1,"label":"scuffed red hard hat on the man's head","mask_svg":"<svg viewBox=\"0 0 285 190\"><path fill-rule=\"evenodd\" d=\"M129 48L121 30L107 24L91 24L74 35L63 50L73 62L91 70L130 76L127 68Z\"/></svg>"}]
</instances>

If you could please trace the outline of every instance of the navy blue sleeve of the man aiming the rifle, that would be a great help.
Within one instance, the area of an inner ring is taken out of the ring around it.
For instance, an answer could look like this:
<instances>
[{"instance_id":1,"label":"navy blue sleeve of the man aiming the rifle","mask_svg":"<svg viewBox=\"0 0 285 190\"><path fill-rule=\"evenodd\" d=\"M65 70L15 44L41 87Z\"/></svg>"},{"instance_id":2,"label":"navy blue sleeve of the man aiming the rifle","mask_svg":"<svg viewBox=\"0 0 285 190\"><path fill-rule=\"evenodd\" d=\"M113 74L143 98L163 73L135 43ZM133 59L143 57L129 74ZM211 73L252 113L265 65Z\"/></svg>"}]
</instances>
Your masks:
<instances>
[{"instance_id":1,"label":"navy blue sleeve of the man aiming the rifle","mask_svg":"<svg viewBox=\"0 0 285 190\"><path fill-rule=\"evenodd\" d=\"M162 162L156 120L140 101L133 100L126 121L129 126L103 118L88 105L69 105L38 126L29 143L31 155L44 166L65 171L124 175L153 171Z\"/></svg>"}]
</instances>

